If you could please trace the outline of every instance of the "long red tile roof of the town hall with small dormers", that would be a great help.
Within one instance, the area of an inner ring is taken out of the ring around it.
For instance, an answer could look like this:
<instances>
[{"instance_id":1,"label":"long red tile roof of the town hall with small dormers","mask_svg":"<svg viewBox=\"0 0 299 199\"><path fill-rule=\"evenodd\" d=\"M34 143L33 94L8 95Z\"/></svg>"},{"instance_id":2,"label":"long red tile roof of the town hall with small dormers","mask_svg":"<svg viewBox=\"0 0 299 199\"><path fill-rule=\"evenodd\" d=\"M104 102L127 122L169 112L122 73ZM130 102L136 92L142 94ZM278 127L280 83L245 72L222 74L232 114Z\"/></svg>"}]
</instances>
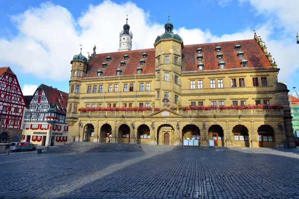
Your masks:
<instances>
[{"instance_id":1,"label":"long red tile roof of the town hall with small dormers","mask_svg":"<svg viewBox=\"0 0 299 199\"><path fill-rule=\"evenodd\" d=\"M225 69L247 69L241 67L242 59L237 57L238 52L235 50L236 44L241 45L241 51L244 52L244 59L248 61L247 68L272 68L267 57L263 53L259 44L254 39L249 40L239 40L239 41L228 41L228 42L218 42L218 43L206 43L206 44L194 44L186 45L182 49L182 73L194 72L199 73L205 72L207 70L220 70L219 61L216 57L217 52L215 47L219 45L221 47L221 53L223 54L223 61L225 62ZM197 68L197 52L196 49L202 48L203 64L204 70L198 71ZM141 75L154 74L155 69L155 49L142 49L124 52L112 52L96 54L89 61L89 66L87 68L86 78L98 77L97 71L101 69L103 71L103 76L115 76L116 70L121 68L121 76L132 76L137 74L136 68L140 66L140 60L143 58L142 53L146 52L148 57L145 59L146 64L141 66L143 71ZM125 60L126 65L120 66L120 62L124 60L124 55L128 54L129 59ZM106 61L106 57L110 56L112 60L110 62ZM161 60L162 62L163 60ZM108 66L103 68L102 63L106 62ZM221 69L223 70L223 69Z\"/></svg>"}]
</instances>

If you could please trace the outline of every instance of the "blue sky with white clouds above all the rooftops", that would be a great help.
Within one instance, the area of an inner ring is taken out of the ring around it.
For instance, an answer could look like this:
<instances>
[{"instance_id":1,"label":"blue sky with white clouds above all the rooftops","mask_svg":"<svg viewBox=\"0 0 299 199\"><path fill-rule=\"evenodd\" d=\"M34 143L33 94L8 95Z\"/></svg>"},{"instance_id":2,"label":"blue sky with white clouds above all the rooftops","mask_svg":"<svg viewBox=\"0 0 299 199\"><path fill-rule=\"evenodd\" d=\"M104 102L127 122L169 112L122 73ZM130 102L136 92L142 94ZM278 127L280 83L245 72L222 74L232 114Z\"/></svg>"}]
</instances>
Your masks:
<instances>
[{"instance_id":1,"label":"blue sky with white clouds above all the rooftops","mask_svg":"<svg viewBox=\"0 0 299 199\"><path fill-rule=\"evenodd\" d=\"M84 4L85 3L85 4ZM129 15L133 49L152 48L166 12L184 44L252 39L275 58L279 81L299 89L298 0L0 0L0 67L17 75L24 95L40 84L68 92L73 55L114 52Z\"/></svg>"}]
</instances>

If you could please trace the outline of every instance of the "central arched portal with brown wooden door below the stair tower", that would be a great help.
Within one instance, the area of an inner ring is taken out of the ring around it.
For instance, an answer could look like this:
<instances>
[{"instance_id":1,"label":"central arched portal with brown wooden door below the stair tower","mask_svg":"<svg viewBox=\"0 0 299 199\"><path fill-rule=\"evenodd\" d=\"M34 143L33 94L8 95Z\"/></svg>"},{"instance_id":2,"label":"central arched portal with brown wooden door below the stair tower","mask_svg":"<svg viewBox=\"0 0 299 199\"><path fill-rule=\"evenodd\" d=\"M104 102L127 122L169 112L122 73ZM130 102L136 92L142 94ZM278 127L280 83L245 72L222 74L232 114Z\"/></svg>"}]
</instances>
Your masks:
<instances>
[{"instance_id":1,"label":"central arched portal with brown wooden door below the stair tower","mask_svg":"<svg viewBox=\"0 0 299 199\"><path fill-rule=\"evenodd\" d=\"M174 129L169 124L164 124L158 127L157 144L158 145L173 145Z\"/></svg>"}]
</instances>

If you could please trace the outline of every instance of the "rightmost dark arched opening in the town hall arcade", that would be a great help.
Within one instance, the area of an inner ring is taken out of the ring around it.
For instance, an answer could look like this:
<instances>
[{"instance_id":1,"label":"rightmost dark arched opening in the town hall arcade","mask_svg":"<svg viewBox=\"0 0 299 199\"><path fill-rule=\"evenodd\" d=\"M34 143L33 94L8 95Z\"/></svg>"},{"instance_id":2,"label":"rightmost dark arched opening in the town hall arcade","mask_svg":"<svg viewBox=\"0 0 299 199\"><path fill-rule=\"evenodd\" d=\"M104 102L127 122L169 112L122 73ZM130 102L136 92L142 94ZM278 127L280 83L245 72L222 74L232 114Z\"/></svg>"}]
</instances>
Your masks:
<instances>
[{"instance_id":1,"label":"rightmost dark arched opening in the town hall arcade","mask_svg":"<svg viewBox=\"0 0 299 199\"><path fill-rule=\"evenodd\" d=\"M258 128L259 147L275 147L274 130L270 125L261 125Z\"/></svg>"}]
</instances>

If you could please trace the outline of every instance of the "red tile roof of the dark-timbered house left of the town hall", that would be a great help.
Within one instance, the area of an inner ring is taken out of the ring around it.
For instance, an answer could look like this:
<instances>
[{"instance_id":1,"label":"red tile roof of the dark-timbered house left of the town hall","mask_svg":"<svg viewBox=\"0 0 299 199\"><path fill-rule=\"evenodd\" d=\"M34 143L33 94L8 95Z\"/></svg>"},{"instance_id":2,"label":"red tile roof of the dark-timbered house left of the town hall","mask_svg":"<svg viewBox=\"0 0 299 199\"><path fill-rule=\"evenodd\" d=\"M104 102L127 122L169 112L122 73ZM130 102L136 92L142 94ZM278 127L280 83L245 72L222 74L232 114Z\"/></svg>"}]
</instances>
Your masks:
<instances>
[{"instance_id":1,"label":"red tile roof of the dark-timbered house left of the town hall","mask_svg":"<svg viewBox=\"0 0 299 199\"><path fill-rule=\"evenodd\" d=\"M46 86L44 84L40 85L39 88L40 87L43 88L43 91L45 93L45 96L46 96L49 104L52 105L54 102L56 104L56 108L57 108L58 112L66 113L68 93L59 91L55 88ZM59 110L59 107L61 108L61 110Z\"/></svg>"}]
</instances>

